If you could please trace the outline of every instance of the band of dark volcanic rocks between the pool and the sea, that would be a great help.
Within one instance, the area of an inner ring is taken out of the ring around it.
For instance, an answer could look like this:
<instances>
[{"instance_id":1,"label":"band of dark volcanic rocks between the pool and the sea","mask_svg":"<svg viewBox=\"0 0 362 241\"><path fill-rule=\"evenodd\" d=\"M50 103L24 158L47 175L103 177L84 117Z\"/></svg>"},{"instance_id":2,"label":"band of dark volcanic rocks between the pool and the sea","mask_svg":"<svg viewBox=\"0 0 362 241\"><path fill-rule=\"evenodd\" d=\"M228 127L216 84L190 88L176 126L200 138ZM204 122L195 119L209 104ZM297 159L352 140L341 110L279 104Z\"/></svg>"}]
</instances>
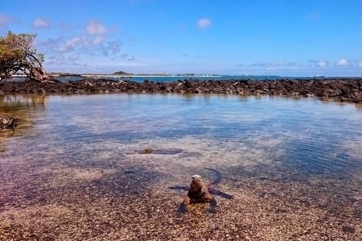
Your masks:
<instances>
[{"instance_id":1,"label":"band of dark volcanic rocks between the pool and the sea","mask_svg":"<svg viewBox=\"0 0 362 241\"><path fill-rule=\"evenodd\" d=\"M0 95L12 93L74 94L74 93L223 93L244 95L292 95L335 98L362 102L362 78L279 79L279 80L178 80L174 82L134 82L129 80L84 78L54 83L3 82Z\"/></svg>"}]
</instances>

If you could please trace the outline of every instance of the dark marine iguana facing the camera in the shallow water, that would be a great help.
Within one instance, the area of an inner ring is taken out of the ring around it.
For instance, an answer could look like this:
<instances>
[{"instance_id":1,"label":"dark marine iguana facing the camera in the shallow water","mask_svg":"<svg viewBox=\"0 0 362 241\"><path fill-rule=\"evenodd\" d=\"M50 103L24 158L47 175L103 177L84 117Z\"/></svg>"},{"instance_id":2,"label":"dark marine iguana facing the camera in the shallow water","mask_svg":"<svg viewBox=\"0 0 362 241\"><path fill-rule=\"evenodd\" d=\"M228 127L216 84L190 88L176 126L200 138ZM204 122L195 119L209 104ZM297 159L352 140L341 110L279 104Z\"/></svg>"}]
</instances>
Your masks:
<instances>
[{"instance_id":1,"label":"dark marine iguana facing the camera in the shallow water","mask_svg":"<svg viewBox=\"0 0 362 241\"><path fill-rule=\"evenodd\" d=\"M212 181L211 183L209 183L208 185L206 185L203 181L200 175L194 175L192 177L192 181L190 183L190 187L187 186L173 186L173 187L169 187L169 189L173 189L173 190L188 190L188 195L187 197L184 199L184 201L182 202L182 204L179 206L178 208L178 212L180 213L185 213L188 211L187 209L187 205L191 204L193 202L210 202L210 206L211 209L210 211L215 213L216 212L216 206L217 206L217 202L215 200L215 198L211 195L219 195L221 197L227 198L227 199L233 199L234 196L233 195L229 195L226 194L224 192L215 190L213 187L215 187L220 181L221 181L221 173L218 172L215 169L211 169L211 168L205 168L208 170L212 170L214 172L216 172L217 174L217 178Z\"/></svg>"}]
</instances>

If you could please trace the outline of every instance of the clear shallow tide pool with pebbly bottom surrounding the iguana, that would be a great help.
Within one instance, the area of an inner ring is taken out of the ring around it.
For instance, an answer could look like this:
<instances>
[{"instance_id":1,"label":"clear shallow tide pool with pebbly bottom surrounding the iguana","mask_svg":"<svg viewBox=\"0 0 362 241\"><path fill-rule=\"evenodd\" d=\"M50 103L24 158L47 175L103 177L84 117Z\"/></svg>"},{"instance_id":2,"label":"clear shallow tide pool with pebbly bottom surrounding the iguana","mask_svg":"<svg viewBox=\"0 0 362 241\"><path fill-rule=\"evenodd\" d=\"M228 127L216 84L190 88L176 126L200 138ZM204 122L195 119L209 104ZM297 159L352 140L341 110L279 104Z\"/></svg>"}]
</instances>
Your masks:
<instances>
[{"instance_id":1,"label":"clear shallow tide pool with pebbly bottom surrounding the iguana","mask_svg":"<svg viewBox=\"0 0 362 241\"><path fill-rule=\"evenodd\" d=\"M362 105L11 95L0 115L21 119L0 131L0 240L362 239ZM234 199L178 214L193 174Z\"/></svg>"}]
</instances>

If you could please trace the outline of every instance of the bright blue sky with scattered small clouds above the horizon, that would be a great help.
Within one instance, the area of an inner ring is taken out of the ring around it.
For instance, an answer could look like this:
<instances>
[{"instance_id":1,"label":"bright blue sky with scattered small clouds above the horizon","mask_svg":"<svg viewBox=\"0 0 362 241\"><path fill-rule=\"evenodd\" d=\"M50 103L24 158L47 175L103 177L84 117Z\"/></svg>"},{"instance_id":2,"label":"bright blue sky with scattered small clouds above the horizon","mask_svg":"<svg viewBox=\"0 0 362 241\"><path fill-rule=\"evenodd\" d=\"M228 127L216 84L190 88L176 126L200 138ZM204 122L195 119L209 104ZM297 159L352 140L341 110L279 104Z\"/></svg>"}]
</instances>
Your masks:
<instances>
[{"instance_id":1,"label":"bright blue sky with scattered small clouds above the horizon","mask_svg":"<svg viewBox=\"0 0 362 241\"><path fill-rule=\"evenodd\" d=\"M362 76L362 1L0 0L48 71Z\"/></svg>"}]
</instances>

